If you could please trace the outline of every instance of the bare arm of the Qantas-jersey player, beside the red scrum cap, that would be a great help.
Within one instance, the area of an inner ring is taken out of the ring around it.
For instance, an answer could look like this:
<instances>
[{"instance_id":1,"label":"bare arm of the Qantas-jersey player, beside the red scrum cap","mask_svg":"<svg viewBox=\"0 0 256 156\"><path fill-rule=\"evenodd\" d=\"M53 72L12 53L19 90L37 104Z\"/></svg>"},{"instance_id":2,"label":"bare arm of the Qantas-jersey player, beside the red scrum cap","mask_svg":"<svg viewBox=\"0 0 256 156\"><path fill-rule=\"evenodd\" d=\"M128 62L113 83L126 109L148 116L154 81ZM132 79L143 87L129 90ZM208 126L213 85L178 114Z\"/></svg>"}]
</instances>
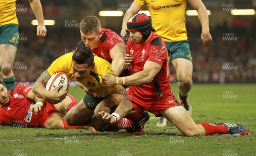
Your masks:
<instances>
[{"instance_id":1,"label":"bare arm of the Qantas-jersey player, beside the red scrum cap","mask_svg":"<svg viewBox=\"0 0 256 156\"><path fill-rule=\"evenodd\" d=\"M122 30L121 30L121 36L125 37L125 35L127 34L127 26L126 23L129 20L130 17L132 17L134 14L137 14L138 12L140 12L140 10L142 9L143 6L139 6L135 1L133 3L131 3L130 8L125 12L125 15L123 17L123 21L122 21Z\"/></svg>"}]
</instances>

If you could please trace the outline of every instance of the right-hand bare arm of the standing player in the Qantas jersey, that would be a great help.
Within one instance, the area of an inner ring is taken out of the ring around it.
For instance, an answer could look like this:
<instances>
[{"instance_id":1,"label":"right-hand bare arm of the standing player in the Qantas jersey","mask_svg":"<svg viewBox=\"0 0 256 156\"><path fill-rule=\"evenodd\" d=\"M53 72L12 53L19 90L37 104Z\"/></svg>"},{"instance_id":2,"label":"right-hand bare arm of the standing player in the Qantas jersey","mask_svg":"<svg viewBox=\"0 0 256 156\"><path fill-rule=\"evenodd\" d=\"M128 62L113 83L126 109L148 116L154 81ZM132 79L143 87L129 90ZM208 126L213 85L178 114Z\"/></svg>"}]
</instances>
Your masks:
<instances>
[{"instance_id":1,"label":"right-hand bare arm of the standing player in the Qantas jersey","mask_svg":"<svg viewBox=\"0 0 256 156\"><path fill-rule=\"evenodd\" d=\"M203 44L206 45L209 40L212 40L212 36L209 30L209 18L207 9L201 0L192 0L190 5L198 12L198 19L202 26L201 40Z\"/></svg>"}]
</instances>

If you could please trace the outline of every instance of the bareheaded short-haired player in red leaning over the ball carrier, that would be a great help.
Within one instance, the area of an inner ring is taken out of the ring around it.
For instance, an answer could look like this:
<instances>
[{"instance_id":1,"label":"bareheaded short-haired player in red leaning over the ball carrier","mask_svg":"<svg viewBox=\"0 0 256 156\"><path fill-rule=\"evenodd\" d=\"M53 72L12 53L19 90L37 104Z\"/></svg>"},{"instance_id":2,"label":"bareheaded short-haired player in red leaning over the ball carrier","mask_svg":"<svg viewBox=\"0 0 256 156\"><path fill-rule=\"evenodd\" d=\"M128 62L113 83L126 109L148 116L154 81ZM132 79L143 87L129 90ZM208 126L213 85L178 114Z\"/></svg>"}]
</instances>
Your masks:
<instances>
[{"instance_id":1,"label":"bareheaded short-haired player in red leaning over the ball carrier","mask_svg":"<svg viewBox=\"0 0 256 156\"><path fill-rule=\"evenodd\" d=\"M89 47L92 52L111 63L114 73L119 76L124 69L125 42L110 29L101 28L96 16L86 16L80 22L81 46Z\"/></svg>"}]
</instances>

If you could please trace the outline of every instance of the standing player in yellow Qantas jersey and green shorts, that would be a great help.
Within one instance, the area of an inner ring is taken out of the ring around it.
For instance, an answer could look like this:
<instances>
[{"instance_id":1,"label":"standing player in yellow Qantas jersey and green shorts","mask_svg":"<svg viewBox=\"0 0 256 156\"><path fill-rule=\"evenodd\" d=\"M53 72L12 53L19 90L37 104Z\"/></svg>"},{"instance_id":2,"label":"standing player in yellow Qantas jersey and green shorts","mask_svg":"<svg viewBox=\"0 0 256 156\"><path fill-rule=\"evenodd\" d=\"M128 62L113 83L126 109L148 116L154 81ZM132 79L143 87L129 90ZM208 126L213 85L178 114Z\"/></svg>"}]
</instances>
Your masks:
<instances>
[{"instance_id":1,"label":"standing player in yellow Qantas jersey and green shorts","mask_svg":"<svg viewBox=\"0 0 256 156\"><path fill-rule=\"evenodd\" d=\"M192 115L192 107L187 99L192 87L192 56L189 50L189 41L186 32L186 2L198 12L198 19L202 26L201 39L205 45L212 37L209 33L209 20L207 9L201 0L134 0L130 8L125 12L122 23L121 36L126 35L126 23L128 19L137 14L144 5L147 5L151 14L152 26L157 34L164 40L168 50L168 78L169 66L175 67L177 80L179 81L178 97L180 103ZM157 126L166 126L166 119L160 118Z\"/></svg>"}]
</instances>

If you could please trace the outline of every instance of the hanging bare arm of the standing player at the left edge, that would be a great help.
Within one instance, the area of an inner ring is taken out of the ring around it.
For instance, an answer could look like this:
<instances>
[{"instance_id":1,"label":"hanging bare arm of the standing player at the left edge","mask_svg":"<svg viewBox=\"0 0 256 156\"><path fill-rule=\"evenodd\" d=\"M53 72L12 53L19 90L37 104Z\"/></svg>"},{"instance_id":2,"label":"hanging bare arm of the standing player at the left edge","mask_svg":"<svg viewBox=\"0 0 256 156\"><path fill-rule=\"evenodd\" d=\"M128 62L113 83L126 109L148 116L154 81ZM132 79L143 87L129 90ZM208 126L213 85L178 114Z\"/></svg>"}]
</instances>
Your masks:
<instances>
[{"instance_id":1,"label":"hanging bare arm of the standing player at the left edge","mask_svg":"<svg viewBox=\"0 0 256 156\"><path fill-rule=\"evenodd\" d=\"M46 35L46 27L44 26L44 15L40 0L29 0L32 11L38 20L38 26L36 28L36 35L38 37L44 37Z\"/></svg>"}]
</instances>

